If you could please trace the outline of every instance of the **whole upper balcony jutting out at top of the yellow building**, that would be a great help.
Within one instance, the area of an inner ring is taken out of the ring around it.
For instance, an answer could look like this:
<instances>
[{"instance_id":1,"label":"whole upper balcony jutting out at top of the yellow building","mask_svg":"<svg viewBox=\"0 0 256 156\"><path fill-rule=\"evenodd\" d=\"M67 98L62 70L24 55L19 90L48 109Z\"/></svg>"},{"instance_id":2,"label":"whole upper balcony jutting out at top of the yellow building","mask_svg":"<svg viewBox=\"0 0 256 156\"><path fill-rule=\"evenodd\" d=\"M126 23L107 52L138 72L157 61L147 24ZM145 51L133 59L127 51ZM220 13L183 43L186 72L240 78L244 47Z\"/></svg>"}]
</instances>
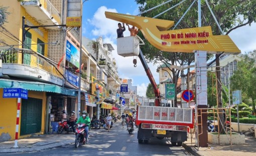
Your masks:
<instances>
[{"instance_id":1,"label":"whole upper balcony jutting out at top of the yellow building","mask_svg":"<svg viewBox=\"0 0 256 156\"><path fill-rule=\"evenodd\" d=\"M41 25L61 24L61 14L49 0L23 0L21 5ZM58 29L56 26L47 29Z\"/></svg>"}]
</instances>

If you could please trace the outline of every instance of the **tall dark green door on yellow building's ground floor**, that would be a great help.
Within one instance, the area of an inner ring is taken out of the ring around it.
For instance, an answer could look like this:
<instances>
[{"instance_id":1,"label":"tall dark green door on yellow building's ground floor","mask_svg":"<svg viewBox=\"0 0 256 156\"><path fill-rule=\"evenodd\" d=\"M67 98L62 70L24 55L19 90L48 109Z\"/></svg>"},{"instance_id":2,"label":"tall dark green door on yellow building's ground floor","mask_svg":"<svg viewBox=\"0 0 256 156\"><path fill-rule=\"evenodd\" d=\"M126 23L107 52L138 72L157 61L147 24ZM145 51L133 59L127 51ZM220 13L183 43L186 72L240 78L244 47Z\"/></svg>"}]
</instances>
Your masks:
<instances>
[{"instance_id":1,"label":"tall dark green door on yellow building's ground floor","mask_svg":"<svg viewBox=\"0 0 256 156\"><path fill-rule=\"evenodd\" d=\"M42 124L42 99L22 99L21 107L21 135L41 131Z\"/></svg>"}]
</instances>

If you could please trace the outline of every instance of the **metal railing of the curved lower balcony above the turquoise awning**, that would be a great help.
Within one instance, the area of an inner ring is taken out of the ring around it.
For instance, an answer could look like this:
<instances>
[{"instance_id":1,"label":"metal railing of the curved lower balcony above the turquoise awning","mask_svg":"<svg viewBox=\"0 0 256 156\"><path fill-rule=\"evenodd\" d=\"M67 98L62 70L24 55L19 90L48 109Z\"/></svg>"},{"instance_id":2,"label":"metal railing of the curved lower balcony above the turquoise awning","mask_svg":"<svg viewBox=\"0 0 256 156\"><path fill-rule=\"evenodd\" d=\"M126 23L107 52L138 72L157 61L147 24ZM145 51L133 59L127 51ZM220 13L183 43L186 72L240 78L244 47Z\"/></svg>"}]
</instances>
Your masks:
<instances>
[{"instance_id":1,"label":"metal railing of the curved lower balcony above the turquoise awning","mask_svg":"<svg viewBox=\"0 0 256 156\"><path fill-rule=\"evenodd\" d=\"M0 49L0 55L3 64L4 63L14 63L14 64L22 64L22 54L24 55L24 63L30 66L38 67L42 70L45 70L55 76L63 78L63 67L59 66L57 68L56 62L45 57L44 55L37 53L32 50L23 50L19 48L8 48L8 49Z\"/></svg>"}]
</instances>

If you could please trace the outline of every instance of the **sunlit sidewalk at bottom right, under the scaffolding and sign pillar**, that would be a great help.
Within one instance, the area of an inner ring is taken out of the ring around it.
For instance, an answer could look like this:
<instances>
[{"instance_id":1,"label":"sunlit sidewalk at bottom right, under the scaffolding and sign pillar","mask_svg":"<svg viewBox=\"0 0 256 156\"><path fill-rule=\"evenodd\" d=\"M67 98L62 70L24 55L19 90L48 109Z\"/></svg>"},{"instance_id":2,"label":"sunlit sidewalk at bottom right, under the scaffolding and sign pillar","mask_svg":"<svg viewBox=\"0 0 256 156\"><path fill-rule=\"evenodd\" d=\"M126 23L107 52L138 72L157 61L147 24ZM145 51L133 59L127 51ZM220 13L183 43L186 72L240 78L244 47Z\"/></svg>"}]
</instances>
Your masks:
<instances>
[{"instance_id":1,"label":"sunlit sidewalk at bottom right, under the scaffolding and sign pillar","mask_svg":"<svg viewBox=\"0 0 256 156\"><path fill-rule=\"evenodd\" d=\"M189 135L190 137L190 135ZM254 156L256 153L256 138L253 136L245 136L244 144L232 144L232 150L230 144L208 144L208 147L195 146L195 138L188 138L182 146L189 150L194 155L204 155L204 156L222 156L222 155L232 155L232 156Z\"/></svg>"}]
</instances>

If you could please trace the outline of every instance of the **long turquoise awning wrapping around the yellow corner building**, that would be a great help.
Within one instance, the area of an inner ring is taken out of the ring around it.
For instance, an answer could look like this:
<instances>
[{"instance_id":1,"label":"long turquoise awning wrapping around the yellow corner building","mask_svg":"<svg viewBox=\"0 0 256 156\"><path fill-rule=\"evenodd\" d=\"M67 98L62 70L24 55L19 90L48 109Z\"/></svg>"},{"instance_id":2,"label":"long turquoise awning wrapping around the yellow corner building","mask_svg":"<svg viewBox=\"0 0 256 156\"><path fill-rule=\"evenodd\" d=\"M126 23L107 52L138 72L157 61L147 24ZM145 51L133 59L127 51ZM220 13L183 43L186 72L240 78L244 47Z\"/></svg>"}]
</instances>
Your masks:
<instances>
[{"instance_id":1,"label":"long turquoise awning wrapping around the yellow corner building","mask_svg":"<svg viewBox=\"0 0 256 156\"><path fill-rule=\"evenodd\" d=\"M0 88L24 88L35 91L56 92L70 96L76 96L78 91L76 89L68 89L55 84L11 79L0 79Z\"/></svg>"}]
</instances>

